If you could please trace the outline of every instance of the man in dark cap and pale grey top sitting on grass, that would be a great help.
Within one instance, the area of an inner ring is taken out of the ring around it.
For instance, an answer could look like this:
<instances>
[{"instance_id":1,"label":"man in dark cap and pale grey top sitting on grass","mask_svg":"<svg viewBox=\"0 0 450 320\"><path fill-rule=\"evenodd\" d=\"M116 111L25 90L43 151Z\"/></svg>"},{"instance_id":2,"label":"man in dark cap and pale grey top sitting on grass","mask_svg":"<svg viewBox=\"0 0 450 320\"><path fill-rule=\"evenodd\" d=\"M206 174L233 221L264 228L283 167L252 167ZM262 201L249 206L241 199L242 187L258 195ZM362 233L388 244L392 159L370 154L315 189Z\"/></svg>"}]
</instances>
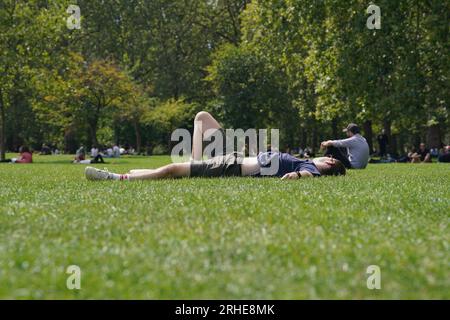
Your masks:
<instances>
[{"instance_id":1,"label":"man in dark cap and pale grey top sitting on grass","mask_svg":"<svg viewBox=\"0 0 450 320\"><path fill-rule=\"evenodd\" d=\"M350 123L344 132L348 138L342 140L328 140L321 143L326 149L325 156L342 162L347 169L364 169L369 162L369 145L360 135L359 127Z\"/></svg>"}]
</instances>

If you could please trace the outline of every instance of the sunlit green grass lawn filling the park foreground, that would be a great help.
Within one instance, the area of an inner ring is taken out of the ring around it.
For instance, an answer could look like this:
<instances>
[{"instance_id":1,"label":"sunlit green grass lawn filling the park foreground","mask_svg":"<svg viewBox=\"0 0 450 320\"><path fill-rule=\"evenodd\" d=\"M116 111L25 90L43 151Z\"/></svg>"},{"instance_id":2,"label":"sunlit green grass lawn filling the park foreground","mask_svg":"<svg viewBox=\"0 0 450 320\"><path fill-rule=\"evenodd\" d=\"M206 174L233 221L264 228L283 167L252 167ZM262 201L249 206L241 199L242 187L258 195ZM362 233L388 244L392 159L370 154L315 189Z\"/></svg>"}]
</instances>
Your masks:
<instances>
[{"instance_id":1,"label":"sunlit green grass lawn filling the park foreground","mask_svg":"<svg viewBox=\"0 0 450 320\"><path fill-rule=\"evenodd\" d=\"M89 182L69 159L0 164L0 298L450 298L447 164ZM109 161L124 172L170 159ZM66 288L69 265L81 290ZM381 290L366 287L369 265Z\"/></svg>"}]
</instances>

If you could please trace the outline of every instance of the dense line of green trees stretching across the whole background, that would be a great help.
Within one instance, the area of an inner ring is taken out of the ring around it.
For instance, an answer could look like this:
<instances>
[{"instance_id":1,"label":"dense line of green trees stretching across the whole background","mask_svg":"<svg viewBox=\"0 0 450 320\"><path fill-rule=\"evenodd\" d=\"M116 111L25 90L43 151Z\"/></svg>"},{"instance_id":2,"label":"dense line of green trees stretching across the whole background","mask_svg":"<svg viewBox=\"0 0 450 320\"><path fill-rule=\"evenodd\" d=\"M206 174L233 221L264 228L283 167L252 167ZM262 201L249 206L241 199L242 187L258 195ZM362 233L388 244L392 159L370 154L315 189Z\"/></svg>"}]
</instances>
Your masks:
<instances>
[{"instance_id":1,"label":"dense line of green trees stretching across the whole background","mask_svg":"<svg viewBox=\"0 0 450 320\"><path fill-rule=\"evenodd\" d=\"M68 28L71 4L80 28ZM371 145L384 128L391 152L448 143L450 3L376 1L372 30L369 4L2 0L2 156L42 143L167 150L203 109L280 128L283 148L317 148L349 121Z\"/></svg>"}]
</instances>

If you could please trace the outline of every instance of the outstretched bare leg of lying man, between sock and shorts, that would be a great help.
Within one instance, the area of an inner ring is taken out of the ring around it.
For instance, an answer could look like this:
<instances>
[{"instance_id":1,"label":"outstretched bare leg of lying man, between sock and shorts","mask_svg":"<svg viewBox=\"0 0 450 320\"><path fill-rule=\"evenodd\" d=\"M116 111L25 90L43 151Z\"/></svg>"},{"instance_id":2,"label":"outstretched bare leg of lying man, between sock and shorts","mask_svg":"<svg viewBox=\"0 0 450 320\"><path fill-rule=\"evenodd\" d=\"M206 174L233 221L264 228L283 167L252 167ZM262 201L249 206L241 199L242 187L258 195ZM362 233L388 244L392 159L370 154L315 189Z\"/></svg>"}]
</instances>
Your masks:
<instances>
[{"instance_id":1,"label":"outstretched bare leg of lying man, between sock and shorts","mask_svg":"<svg viewBox=\"0 0 450 320\"><path fill-rule=\"evenodd\" d=\"M132 170L130 180L155 180L189 177L191 173L190 162L171 163L154 170Z\"/></svg>"}]
</instances>

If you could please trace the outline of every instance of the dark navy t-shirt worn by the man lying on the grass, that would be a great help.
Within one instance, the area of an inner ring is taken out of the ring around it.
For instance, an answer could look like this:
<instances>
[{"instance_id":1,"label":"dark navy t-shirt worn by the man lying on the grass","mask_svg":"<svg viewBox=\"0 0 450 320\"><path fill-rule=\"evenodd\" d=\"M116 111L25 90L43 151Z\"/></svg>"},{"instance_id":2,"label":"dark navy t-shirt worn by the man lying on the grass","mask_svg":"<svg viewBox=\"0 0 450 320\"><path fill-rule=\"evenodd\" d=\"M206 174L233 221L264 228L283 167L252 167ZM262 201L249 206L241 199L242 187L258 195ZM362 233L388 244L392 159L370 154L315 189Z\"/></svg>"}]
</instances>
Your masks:
<instances>
[{"instance_id":1,"label":"dark navy t-shirt worn by the man lying on the grass","mask_svg":"<svg viewBox=\"0 0 450 320\"><path fill-rule=\"evenodd\" d=\"M268 168L272 161L277 160L279 161L278 171L273 176L282 177L286 173L294 171L308 171L313 176L320 176L316 165L310 160L300 160L288 153L280 152L261 152L258 154L258 163L261 168Z\"/></svg>"}]
</instances>

